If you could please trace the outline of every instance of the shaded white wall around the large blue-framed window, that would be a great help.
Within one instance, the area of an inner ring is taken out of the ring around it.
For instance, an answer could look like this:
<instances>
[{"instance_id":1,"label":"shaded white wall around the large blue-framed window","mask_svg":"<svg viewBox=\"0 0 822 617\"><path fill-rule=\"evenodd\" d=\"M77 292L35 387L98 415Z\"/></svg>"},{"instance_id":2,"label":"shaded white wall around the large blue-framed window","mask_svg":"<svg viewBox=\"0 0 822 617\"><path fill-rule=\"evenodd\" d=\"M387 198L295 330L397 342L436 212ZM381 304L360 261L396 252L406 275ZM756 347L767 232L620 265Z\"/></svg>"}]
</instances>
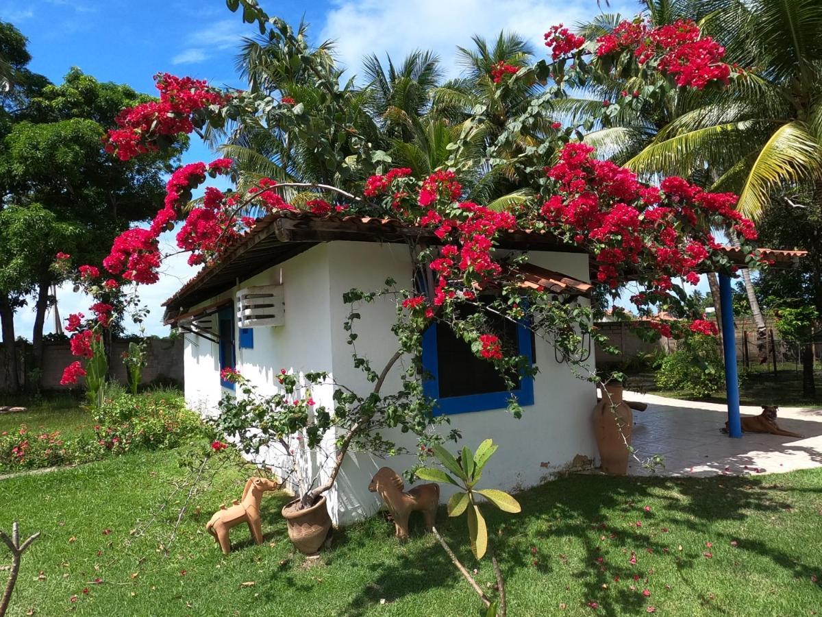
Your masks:
<instances>
[{"instance_id":1,"label":"shaded white wall around the large blue-framed window","mask_svg":"<svg viewBox=\"0 0 822 617\"><path fill-rule=\"evenodd\" d=\"M411 276L408 248L403 245L374 243L333 243L330 262L332 313L344 318L345 307L339 295L351 287L372 289L381 285L387 276L396 281L407 281ZM588 281L588 256L575 253L529 253L534 265L560 271L582 281ZM356 264L356 266L354 266ZM337 293L339 292L339 293ZM387 302L365 304L358 309L360 320L358 350L367 351L373 366L379 370L396 349L390 333L394 322L394 307ZM353 369L349 346L344 332L332 328L332 356L334 373L342 383L366 384ZM524 489L569 465L577 454L594 459L597 447L593 438L591 411L596 404L593 385L575 378L566 364L557 364L554 351L547 341L537 338L536 360L539 373L534 378L534 404L524 407L523 417L516 420L505 409L478 411L450 416L450 424L438 427L441 434L459 429L463 440L455 450L467 445L477 448L486 438L493 438L499 449L483 472L483 486L504 490ZM589 360L593 367L593 357ZM399 364L390 373L391 378L383 392L392 392L399 385ZM359 379L359 381L358 381ZM367 392L363 389L363 392ZM386 438L413 451L416 441L399 430L386 432ZM368 483L381 466L390 466L401 473L417 462L411 454L384 460L367 453L354 453L344 462L337 480L337 517L341 524L371 516L381 507L376 494L367 491ZM433 464L433 459L432 459ZM453 490L443 487L443 500Z\"/></svg>"}]
</instances>

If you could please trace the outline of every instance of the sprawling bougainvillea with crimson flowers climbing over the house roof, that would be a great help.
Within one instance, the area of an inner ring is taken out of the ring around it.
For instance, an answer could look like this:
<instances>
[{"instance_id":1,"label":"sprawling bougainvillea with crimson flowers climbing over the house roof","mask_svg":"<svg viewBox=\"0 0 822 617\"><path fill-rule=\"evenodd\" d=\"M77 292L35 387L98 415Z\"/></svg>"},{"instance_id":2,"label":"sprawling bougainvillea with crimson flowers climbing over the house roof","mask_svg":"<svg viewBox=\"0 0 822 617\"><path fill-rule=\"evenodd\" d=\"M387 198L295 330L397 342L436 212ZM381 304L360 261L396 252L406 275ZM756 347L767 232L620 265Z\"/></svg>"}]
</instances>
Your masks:
<instances>
[{"instance_id":1,"label":"sprawling bougainvillea with crimson flowers climbing over the house roof","mask_svg":"<svg viewBox=\"0 0 822 617\"><path fill-rule=\"evenodd\" d=\"M330 85L315 64L320 61L300 51L304 41L284 21L266 16L256 2L229 0L232 10L241 4L243 18L257 21L283 49L293 51L295 63L305 68L308 76L316 75L327 104L335 105L335 97L344 88ZM477 131L483 130L492 114L492 109L482 105L473 109L461 136L449 144L449 164L423 177L415 176L412 169L390 165L390 156L373 151L369 141L355 134L351 118L342 112L331 114L331 125L317 128L307 118L300 90L289 91L285 82L275 97L256 88L221 90L205 81L161 74L156 78L159 100L124 110L118 118L119 128L109 132L106 149L128 160L206 126L221 128L229 121L266 126L291 141L321 144L317 147L329 151L328 164L335 165L334 177L341 182L346 179L346 188L355 187L346 190L329 184L244 179L238 190L207 187L202 200L192 203L193 192L206 178L236 177L237 169L228 158L185 165L169 179L164 206L150 225L123 232L104 259L104 269L122 281L157 281L163 259L159 234L180 221L178 247L191 254L190 263L205 265L219 262L229 248L253 231L257 219L248 216L249 212L275 215L302 210L318 218L340 213L391 217L419 231L408 234L413 284L386 281L381 290L351 290L344 296L351 306L344 328L349 333L353 364L373 384L371 392L354 392L343 384L326 383L324 373L309 373L312 378L305 387L323 384L334 392L333 411L323 409L318 414L318 408L308 404L302 393L296 396L297 383L287 372L275 397L261 400L250 387L245 392L243 385L242 397L223 407L226 434L241 442L247 429L265 430L275 443L301 433L319 443L324 431L331 426L337 429L334 471L325 485L303 495L305 504L333 485L350 447L396 452L397 448L381 437L382 428L399 427L418 435L423 457L433 451L438 438L430 429L436 403L423 395L420 383L424 373L422 335L432 324L450 327L478 357L494 364L510 390L537 369L507 344L493 327L492 318L524 323L534 336L554 346L558 357L581 378L599 383L607 377L595 373L580 350L587 336L598 338L593 329L595 312L603 310L608 297L618 295L626 281L636 281L644 288L631 298L640 315L650 317L663 311L681 318L664 322L649 318L645 322L649 327L665 336L713 332L713 324L696 311L678 280L695 284L700 270L733 271L713 229L737 234L750 265L759 262L753 245L756 231L750 220L734 209L735 195L709 193L681 178L662 179L658 185L642 183L629 169L598 160L593 148L584 143L584 126L563 128L551 119L552 100L565 96L569 88L615 71L654 72L665 79L641 91L624 93L620 101L603 101L598 117L603 124L619 105L639 104L633 101L661 96L666 88L721 87L730 79L744 77L743 72L723 63L721 46L686 21L659 29L650 29L642 21L625 22L613 35L590 43L556 26L547 33L546 44L551 49L550 61L541 60L530 67L503 63L495 65L489 75L500 92L518 84L542 86L542 93L526 111L507 119L496 137L483 140L483 169L505 165L506 174L515 175L528 189L528 196L514 206L473 202L459 182L461 165L469 164L461 155L476 141ZM343 145L354 154L338 160L337 150ZM290 203L286 197L297 188L316 197L299 205ZM513 233L553 237L589 253L597 285L594 308L522 285L519 268L528 261L527 251L499 250L501 241ZM87 271L81 276L96 278L97 274ZM354 323L360 318L358 304L376 299L393 299L397 315L392 327L397 348L381 368L358 353L354 332ZM75 336L87 335L78 332ZM382 387L400 358L410 361L402 371L399 391L386 394ZM244 398L252 402L243 403ZM514 396L509 409L515 416L523 412Z\"/></svg>"}]
</instances>

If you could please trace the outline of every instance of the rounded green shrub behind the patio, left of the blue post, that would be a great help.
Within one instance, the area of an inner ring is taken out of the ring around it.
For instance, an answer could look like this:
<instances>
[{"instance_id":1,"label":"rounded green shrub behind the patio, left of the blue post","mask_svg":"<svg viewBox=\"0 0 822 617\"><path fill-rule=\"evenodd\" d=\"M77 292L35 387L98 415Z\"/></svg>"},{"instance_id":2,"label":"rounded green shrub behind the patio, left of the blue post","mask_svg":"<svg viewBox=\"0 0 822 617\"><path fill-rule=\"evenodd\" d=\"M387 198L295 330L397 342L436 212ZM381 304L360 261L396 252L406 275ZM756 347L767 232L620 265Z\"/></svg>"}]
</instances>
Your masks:
<instances>
[{"instance_id":1,"label":"rounded green shrub behind the patio, left of the blue post","mask_svg":"<svg viewBox=\"0 0 822 617\"><path fill-rule=\"evenodd\" d=\"M663 390L683 390L695 397L710 397L725 384L725 368L717 339L692 334L679 348L659 362L657 386Z\"/></svg>"}]
</instances>

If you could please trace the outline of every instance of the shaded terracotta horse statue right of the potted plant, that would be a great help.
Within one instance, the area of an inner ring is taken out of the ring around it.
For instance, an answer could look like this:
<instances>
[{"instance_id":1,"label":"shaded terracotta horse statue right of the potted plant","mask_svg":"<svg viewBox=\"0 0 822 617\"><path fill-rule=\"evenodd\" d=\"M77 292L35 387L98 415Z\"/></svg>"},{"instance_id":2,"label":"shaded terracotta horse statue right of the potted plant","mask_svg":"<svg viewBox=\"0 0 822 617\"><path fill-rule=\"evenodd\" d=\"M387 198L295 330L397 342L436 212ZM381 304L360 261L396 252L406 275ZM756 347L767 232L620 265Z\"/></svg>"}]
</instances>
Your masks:
<instances>
[{"instance_id":1,"label":"shaded terracotta horse statue right of the potted plant","mask_svg":"<svg viewBox=\"0 0 822 617\"><path fill-rule=\"evenodd\" d=\"M390 467L377 471L368 485L372 493L380 494L388 511L394 517L397 537L405 540L409 536L409 515L422 512L426 531L431 531L436 519L436 508L440 505L440 485L419 485L405 492L403 479Z\"/></svg>"}]
</instances>

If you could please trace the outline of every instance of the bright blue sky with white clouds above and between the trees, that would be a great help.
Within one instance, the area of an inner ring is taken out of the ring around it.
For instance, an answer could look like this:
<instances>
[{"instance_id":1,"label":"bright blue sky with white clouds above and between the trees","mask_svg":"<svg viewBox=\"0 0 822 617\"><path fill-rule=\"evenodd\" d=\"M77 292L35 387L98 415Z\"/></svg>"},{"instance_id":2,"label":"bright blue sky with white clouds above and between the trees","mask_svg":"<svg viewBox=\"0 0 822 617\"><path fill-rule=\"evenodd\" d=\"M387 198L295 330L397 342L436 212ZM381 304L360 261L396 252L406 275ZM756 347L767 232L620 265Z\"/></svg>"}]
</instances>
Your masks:
<instances>
[{"instance_id":1,"label":"bright blue sky with white clouds above and between the trees","mask_svg":"<svg viewBox=\"0 0 822 617\"><path fill-rule=\"evenodd\" d=\"M304 17L316 42L335 39L339 60L349 74L358 72L367 53L402 58L413 49L433 49L446 66L454 67L456 45L469 46L472 35L492 37L501 29L527 36L539 49L548 27L572 25L600 10L595 0L261 0L261 4L292 24ZM606 10L632 14L635 7L630 0L612 0ZM0 19L11 21L28 37L30 68L54 82L62 81L76 66L100 81L127 83L150 93L155 92L152 76L157 72L242 86L234 55L242 37L257 32L229 12L224 0L0 0ZM192 141L184 161L210 157L205 146ZM173 237L168 236L163 240L170 250ZM168 333L161 323L160 303L194 273L185 257L178 257L164 264L159 283L141 288L141 298L151 309L146 332ZM63 318L88 305L66 286L58 290L58 299ZM53 317L48 321L50 332ZM18 336L30 338L32 322L30 309L22 308L16 317Z\"/></svg>"}]
</instances>

